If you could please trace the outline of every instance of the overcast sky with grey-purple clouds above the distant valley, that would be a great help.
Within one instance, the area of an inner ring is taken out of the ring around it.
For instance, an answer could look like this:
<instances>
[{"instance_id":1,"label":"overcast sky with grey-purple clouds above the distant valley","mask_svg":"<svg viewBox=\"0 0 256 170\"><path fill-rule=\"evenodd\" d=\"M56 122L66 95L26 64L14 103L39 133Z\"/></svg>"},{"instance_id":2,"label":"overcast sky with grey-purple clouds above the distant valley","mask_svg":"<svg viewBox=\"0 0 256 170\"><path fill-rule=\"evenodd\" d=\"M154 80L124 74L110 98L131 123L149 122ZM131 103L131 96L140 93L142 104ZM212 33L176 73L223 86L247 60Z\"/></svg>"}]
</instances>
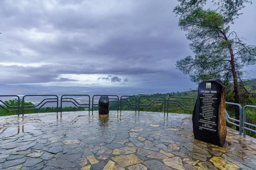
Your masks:
<instances>
[{"instance_id":1,"label":"overcast sky with grey-purple clouds above the distant valley","mask_svg":"<svg viewBox=\"0 0 256 170\"><path fill-rule=\"evenodd\" d=\"M0 83L186 91L175 0L0 0ZM231 29L256 44L256 3ZM256 66L245 68L256 71ZM256 77L256 75L251 75Z\"/></svg>"}]
</instances>

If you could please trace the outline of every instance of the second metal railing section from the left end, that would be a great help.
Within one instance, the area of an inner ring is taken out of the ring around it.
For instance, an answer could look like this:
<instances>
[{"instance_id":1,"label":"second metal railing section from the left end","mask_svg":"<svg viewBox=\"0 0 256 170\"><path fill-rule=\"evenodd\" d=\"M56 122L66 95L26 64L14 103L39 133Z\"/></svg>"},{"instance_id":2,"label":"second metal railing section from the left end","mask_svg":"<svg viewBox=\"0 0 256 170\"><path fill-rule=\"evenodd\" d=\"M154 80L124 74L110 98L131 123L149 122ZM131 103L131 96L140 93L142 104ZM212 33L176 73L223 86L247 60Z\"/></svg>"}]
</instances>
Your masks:
<instances>
[{"instance_id":1,"label":"second metal railing section from the left end","mask_svg":"<svg viewBox=\"0 0 256 170\"><path fill-rule=\"evenodd\" d=\"M26 106L24 106L25 97L27 97L27 96L55 96L56 98L46 98L43 101L41 101L38 105L26 105ZM56 100L56 101L46 101L46 102L44 102L45 100ZM42 108L46 103L52 103L52 102L57 102L57 113L58 113L58 96L57 95L25 95L22 98L22 115L24 116L24 111L38 110L38 109ZM25 109L25 108L29 108L29 107L38 107L39 105L41 105L39 108Z\"/></svg>"}]
</instances>

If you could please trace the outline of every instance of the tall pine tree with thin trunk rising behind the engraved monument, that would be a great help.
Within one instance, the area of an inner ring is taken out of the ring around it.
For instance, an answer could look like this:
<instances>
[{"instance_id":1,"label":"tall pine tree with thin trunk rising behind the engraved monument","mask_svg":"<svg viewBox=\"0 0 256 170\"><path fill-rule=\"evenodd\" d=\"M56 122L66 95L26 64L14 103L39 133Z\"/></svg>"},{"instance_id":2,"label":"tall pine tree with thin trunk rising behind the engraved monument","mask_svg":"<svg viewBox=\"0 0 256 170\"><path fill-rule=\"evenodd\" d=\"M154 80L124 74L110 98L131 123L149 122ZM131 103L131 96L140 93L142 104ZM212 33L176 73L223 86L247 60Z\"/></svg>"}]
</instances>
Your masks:
<instances>
[{"instance_id":1,"label":"tall pine tree with thin trunk rising behind the engraved monument","mask_svg":"<svg viewBox=\"0 0 256 170\"><path fill-rule=\"evenodd\" d=\"M177 69L189 74L193 82L219 78L233 83L234 102L239 103L239 82L244 66L256 63L255 45L242 42L230 24L241 15L244 3L251 0L215 0L216 10L205 10L207 0L178 0L174 12L180 16L179 26L191 41L195 56L177 61ZM236 108L239 119L239 108Z\"/></svg>"}]
</instances>

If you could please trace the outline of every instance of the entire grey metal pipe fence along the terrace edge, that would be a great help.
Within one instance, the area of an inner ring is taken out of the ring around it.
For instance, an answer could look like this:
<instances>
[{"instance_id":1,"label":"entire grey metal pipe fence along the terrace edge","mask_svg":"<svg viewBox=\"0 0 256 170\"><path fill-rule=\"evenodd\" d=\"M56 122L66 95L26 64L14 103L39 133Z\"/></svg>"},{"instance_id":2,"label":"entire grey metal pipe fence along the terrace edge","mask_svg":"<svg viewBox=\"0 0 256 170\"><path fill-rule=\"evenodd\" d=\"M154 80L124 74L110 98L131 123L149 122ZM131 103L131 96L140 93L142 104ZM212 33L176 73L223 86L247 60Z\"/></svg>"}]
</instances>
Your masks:
<instances>
[{"instance_id":1,"label":"entire grey metal pipe fence along the terrace edge","mask_svg":"<svg viewBox=\"0 0 256 170\"><path fill-rule=\"evenodd\" d=\"M33 97L33 96L54 96L54 98L45 98L43 99L41 102L39 102L37 105L24 105L25 102L25 97ZM68 97L65 97L68 96ZM89 103L79 103L76 99L74 99L71 96L87 96L89 98ZM102 96L102 95L93 95L92 97L92 111L94 108L98 108L99 104L95 104L94 103L94 99L95 96ZM110 98L110 102L116 102L117 103L117 111L119 111L119 96L117 95L107 95L109 97L115 97L115 98ZM5 109L6 111L17 111L17 115L20 115L20 97L17 95L0 95L0 97L17 97L17 106L10 106L7 103L3 102L2 100L0 100L0 103L2 103L3 105L0 105L0 108ZM135 98L135 104L132 104L130 101L128 101L128 99L126 99L125 97L133 97ZM141 104L142 99L141 98L153 98L153 100L151 100L151 102L149 104ZM178 99L178 100L175 100ZM122 102L126 103L128 105L129 108L134 108L135 111L139 111L140 109L148 109L151 108L153 105L160 103L160 104L164 104L164 113L166 113L166 103L167 103L167 113L169 112L169 104L175 104L178 105L181 109L183 109L184 111L193 111L194 107L189 107L184 105L180 99L192 99L192 100L196 100L195 98L191 98L191 97L168 97L167 100L164 96L140 96L138 98L138 102L137 102L137 97L136 96L121 96L120 98L120 111L122 111ZM49 101L50 100L50 101ZM166 102L167 101L167 102ZM46 103L50 103L50 102L56 102L57 105L57 113L58 113L58 96L57 95L25 95L22 98L22 115L24 116L24 111L27 110L38 110L40 108L42 108ZM90 96L89 95L62 95L61 96L61 111L62 111L62 104L63 102L71 102L73 103L77 108L89 108L90 111ZM138 105L137 105L138 103ZM231 102L226 102L227 105L235 105L239 107L240 113L240 119L233 119L229 116L227 110L225 110L225 118L227 120L228 123L230 123L231 125L235 125L237 127L239 127L239 134L241 135L242 130L243 130L243 135L246 136L246 130L250 130L253 133L256 133L256 130L253 130L247 126L251 126L251 127L256 127L256 125L251 124L249 122L246 122L246 109L247 108L256 108L256 106L252 106L252 105L246 105L244 106L244 108L242 108L241 105L236 104L236 103L231 103ZM5 107L6 106L6 107ZM33 108L29 108L29 107L33 107ZM37 108L35 108L37 107ZM17 109L9 109L9 108L17 108ZM27 109L26 109L27 108ZM137 109L138 108L138 109ZM234 122L231 121L235 121L235 122L239 122L239 124L236 124Z\"/></svg>"}]
</instances>

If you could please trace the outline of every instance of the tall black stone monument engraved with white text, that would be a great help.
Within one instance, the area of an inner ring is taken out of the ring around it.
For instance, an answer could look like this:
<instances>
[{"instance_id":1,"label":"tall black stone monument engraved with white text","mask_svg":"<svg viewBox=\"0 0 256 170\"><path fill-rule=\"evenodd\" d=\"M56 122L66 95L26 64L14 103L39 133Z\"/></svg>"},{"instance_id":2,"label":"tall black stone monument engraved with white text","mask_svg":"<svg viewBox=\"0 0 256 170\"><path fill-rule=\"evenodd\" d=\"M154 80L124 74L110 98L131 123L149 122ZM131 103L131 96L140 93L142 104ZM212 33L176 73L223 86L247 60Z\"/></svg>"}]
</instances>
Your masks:
<instances>
[{"instance_id":1,"label":"tall black stone monument engraved with white text","mask_svg":"<svg viewBox=\"0 0 256 170\"><path fill-rule=\"evenodd\" d=\"M220 79L203 81L198 85L198 96L192 122L195 139L223 146L227 136L225 119L225 86Z\"/></svg>"}]
</instances>

